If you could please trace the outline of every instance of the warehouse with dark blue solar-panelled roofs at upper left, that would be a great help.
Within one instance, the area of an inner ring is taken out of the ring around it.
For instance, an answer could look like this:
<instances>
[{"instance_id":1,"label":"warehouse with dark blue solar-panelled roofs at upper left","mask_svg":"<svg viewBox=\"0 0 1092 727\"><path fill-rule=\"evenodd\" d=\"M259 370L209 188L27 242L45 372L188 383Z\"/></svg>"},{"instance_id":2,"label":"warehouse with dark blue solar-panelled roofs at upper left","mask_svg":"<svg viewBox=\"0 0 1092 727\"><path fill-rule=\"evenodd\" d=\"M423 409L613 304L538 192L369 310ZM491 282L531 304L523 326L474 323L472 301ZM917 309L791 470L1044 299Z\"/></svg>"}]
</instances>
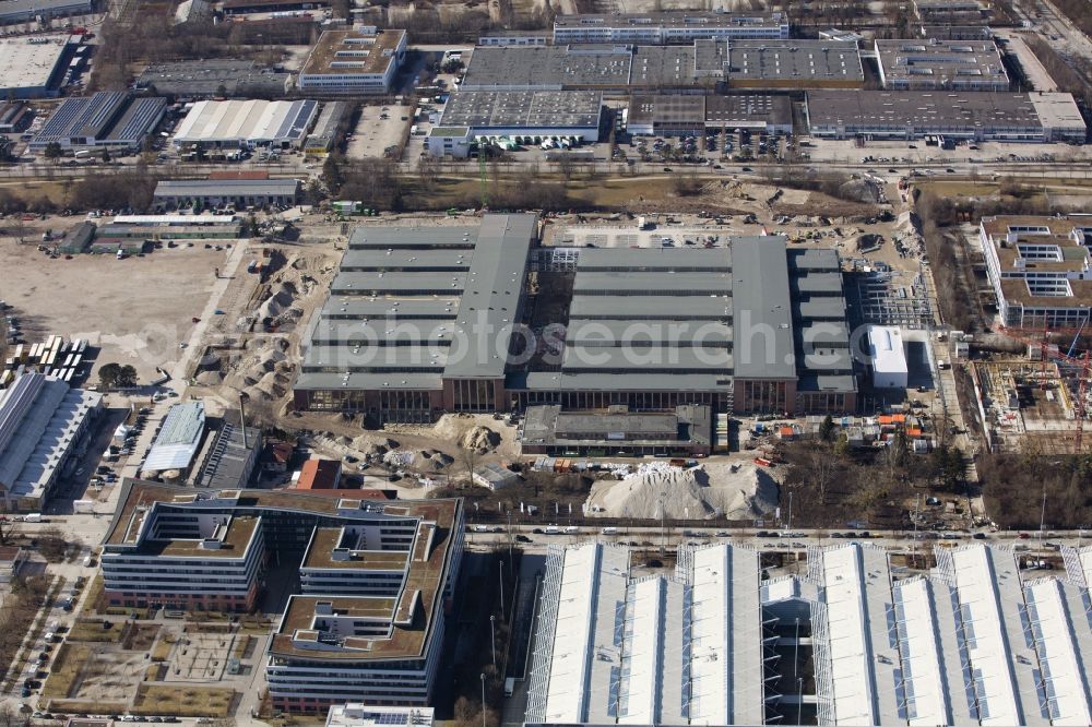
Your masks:
<instances>
[{"instance_id":1,"label":"warehouse with dark blue solar-panelled roofs at upper left","mask_svg":"<svg viewBox=\"0 0 1092 727\"><path fill-rule=\"evenodd\" d=\"M31 140L31 151L45 151L54 142L68 151L138 150L166 110L165 98L120 92L100 91L93 96L66 98Z\"/></svg>"}]
</instances>

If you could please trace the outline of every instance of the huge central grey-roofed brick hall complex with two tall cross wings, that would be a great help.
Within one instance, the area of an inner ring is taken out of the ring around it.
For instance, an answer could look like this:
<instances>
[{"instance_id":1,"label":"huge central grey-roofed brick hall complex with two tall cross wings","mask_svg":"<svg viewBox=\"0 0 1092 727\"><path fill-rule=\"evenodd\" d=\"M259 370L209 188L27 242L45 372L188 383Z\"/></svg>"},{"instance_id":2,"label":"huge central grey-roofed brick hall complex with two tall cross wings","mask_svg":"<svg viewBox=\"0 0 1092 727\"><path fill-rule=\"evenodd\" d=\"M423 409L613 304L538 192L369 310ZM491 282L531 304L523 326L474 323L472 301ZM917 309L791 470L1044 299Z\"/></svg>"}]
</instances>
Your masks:
<instances>
[{"instance_id":1,"label":"huge central grey-roofed brick hall complex with two tall cross wings","mask_svg":"<svg viewBox=\"0 0 1092 727\"><path fill-rule=\"evenodd\" d=\"M566 249L577 260L556 297L529 272L532 254L549 266L558 251L537 248L538 237L530 214L357 228L305 334L296 407L376 421L535 405L855 408L835 251L790 250L780 236L717 249ZM535 322L539 306L563 314ZM546 341L539 323L566 333Z\"/></svg>"}]
</instances>

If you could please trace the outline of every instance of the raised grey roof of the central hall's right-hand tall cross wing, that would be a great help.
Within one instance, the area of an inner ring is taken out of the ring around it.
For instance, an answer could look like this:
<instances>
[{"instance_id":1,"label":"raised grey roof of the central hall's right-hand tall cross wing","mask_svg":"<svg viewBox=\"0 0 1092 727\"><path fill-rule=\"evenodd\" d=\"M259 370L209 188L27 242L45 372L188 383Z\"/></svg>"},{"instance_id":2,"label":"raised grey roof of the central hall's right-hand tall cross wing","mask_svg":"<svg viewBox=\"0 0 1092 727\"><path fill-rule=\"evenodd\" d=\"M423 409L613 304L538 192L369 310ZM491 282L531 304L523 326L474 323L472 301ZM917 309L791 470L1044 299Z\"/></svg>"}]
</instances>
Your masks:
<instances>
[{"instance_id":1,"label":"raised grey roof of the central hall's right-hand tall cross wing","mask_svg":"<svg viewBox=\"0 0 1092 727\"><path fill-rule=\"evenodd\" d=\"M736 377L794 378L796 362L785 238L735 238L732 260Z\"/></svg>"}]
</instances>

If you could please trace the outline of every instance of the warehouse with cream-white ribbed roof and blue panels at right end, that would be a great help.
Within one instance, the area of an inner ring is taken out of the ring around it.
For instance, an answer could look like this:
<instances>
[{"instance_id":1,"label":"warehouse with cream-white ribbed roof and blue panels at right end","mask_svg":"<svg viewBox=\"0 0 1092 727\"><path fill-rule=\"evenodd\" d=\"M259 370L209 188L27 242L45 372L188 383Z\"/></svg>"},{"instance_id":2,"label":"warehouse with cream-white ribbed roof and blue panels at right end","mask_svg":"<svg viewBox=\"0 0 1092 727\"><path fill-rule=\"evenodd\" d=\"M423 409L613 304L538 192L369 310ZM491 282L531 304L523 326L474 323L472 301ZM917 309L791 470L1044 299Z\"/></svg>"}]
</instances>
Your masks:
<instances>
[{"instance_id":1,"label":"warehouse with cream-white ribbed roof and blue panels at right end","mask_svg":"<svg viewBox=\"0 0 1092 727\"><path fill-rule=\"evenodd\" d=\"M316 100L202 100L178 124L171 143L201 148L299 148L319 111Z\"/></svg>"}]
</instances>

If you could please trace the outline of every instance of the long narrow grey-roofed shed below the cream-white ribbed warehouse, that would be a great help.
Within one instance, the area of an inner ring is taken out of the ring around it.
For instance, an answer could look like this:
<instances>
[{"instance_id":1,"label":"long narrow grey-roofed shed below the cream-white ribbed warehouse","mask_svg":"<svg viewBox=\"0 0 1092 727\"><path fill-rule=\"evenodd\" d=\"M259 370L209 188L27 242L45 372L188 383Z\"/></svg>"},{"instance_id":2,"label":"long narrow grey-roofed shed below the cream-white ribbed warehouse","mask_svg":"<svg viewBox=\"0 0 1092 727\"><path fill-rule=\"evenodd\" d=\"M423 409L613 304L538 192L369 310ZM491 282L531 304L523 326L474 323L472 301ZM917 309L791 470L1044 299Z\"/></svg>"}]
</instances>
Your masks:
<instances>
[{"instance_id":1,"label":"long narrow grey-roofed shed below the cream-white ribbed warehouse","mask_svg":"<svg viewBox=\"0 0 1092 727\"><path fill-rule=\"evenodd\" d=\"M164 179L155 184L152 204L157 210L292 206L299 187L298 179Z\"/></svg>"}]
</instances>

